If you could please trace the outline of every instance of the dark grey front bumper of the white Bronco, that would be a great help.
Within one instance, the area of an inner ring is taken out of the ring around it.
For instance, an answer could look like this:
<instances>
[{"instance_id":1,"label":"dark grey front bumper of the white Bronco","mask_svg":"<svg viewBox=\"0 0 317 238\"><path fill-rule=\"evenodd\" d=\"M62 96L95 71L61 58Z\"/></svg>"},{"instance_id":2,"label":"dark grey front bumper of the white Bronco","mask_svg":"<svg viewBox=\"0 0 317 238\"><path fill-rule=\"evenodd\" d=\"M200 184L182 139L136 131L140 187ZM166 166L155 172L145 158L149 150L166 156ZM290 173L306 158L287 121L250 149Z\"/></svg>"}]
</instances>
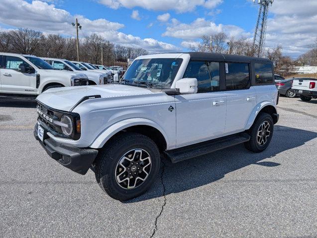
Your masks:
<instances>
[{"instance_id":1,"label":"dark grey front bumper of the white Bronco","mask_svg":"<svg viewBox=\"0 0 317 238\"><path fill-rule=\"evenodd\" d=\"M85 175L92 166L98 150L90 148L77 148L70 145L65 145L48 138L44 132L44 140L41 141L37 135L38 124L34 127L34 137L38 140L46 153L66 168Z\"/></svg>"}]
</instances>

